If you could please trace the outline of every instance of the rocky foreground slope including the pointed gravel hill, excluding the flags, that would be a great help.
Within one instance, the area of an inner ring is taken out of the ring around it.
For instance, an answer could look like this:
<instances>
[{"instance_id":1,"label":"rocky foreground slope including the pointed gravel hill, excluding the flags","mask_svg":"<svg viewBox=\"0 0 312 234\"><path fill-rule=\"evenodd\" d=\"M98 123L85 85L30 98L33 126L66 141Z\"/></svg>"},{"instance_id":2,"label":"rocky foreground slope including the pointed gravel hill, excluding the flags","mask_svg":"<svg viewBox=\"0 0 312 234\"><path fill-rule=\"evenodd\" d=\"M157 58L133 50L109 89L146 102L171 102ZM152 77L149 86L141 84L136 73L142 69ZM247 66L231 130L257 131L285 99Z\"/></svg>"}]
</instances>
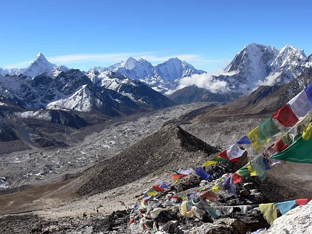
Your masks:
<instances>
[{"instance_id":1,"label":"rocky foreground slope including the pointed gravel hill, excluding the flags","mask_svg":"<svg viewBox=\"0 0 312 234\"><path fill-rule=\"evenodd\" d=\"M11 214L8 207L14 205L16 200L7 203L1 209L2 214L3 211L6 213L0 217L0 230L10 234L250 234L261 229L266 229L265 232L291 234L296 233L296 229L300 230L297 233L311 231L311 203L290 211L292 216L278 212L278 218L271 227L256 206L311 196L308 182L299 189L292 182L299 184L304 181L296 178L288 181L277 177L284 173L283 168L287 164L271 170L274 174L265 181L255 177L243 180L236 186L237 196L225 192L214 202L214 206L234 206L231 212L215 217L207 212L195 213L190 217L181 214L180 205L185 196L198 193L203 185L225 174L234 173L253 157L247 155L235 163L222 162L206 168L211 175L208 182L192 173L154 195L145 205L141 204L142 192L151 188L156 179L168 181L172 170L195 168L214 157L219 150L219 147L207 144L175 124L167 124L116 156L98 162L62 187L46 192L40 199L30 200L15 210L11 209ZM296 164L296 167L299 166ZM131 187L137 181L140 184ZM125 189L126 186L130 186L129 190ZM110 191L114 192L106 196ZM59 203L60 197L63 203ZM194 202L195 209L206 205L201 200ZM121 206L117 206L117 203ZM136 203L140 207L133 206ZM242 205L248 206L248 214L238 208ZM80 207L79 212L74 212L74 209ZM111 212L112 209L115 211ZM61 214L60 211L66 213ZM159 211L158 215L151 216L153 211ZM301 212L298 213L299 218L295 218L296 212ZM52 215L49 217L48 213ZM287 221L279 221L284 219ZM286 222L292 225L285 225Z\"/></svg>"}]
</instances>

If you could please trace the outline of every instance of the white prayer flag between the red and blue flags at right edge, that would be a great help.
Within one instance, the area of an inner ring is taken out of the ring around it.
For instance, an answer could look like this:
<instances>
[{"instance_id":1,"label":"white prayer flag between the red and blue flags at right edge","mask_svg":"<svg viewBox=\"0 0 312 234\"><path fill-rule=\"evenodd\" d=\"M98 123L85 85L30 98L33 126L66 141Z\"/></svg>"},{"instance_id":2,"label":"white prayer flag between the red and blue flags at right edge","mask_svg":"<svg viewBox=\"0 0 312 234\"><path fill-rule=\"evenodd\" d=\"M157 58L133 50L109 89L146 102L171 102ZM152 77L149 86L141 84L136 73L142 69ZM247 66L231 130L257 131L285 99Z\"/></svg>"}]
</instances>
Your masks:
<instances>
[{"instance_id":1,"label":"white prayer flag between the red and blue flags at right edge","mask_svg":"<svg viewBox=\"0 0 312 234\"><path fill-rule=\"evenodd\" d=\"M298 119L305 117L307 112L312 109L307 93L304 90L293 97L288 104Z\"/></svg>"}]
</instances>

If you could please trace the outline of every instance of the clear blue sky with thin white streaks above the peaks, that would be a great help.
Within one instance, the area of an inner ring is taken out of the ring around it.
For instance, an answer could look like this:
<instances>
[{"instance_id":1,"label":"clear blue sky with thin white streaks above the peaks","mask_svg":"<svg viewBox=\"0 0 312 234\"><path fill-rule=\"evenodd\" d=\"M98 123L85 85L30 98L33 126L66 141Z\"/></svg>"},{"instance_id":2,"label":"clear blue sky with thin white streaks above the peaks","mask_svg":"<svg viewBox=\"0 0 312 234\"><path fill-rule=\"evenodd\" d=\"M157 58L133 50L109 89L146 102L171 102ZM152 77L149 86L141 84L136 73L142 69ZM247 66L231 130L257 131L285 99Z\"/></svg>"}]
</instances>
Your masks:
<instances>
[{"instance_id":1,"label":"clear blue sky with thin white streaks above the peaks","mask_svg":"<svg viewBox=\"0 0 312 234\"><path fill-rule=\"evenodd\" d=\"M10 0L1 2L0 67L39 52L88 70L130 56L214 72L251 42L312 53L311 1Z\"/></svg>"}]
</instances>

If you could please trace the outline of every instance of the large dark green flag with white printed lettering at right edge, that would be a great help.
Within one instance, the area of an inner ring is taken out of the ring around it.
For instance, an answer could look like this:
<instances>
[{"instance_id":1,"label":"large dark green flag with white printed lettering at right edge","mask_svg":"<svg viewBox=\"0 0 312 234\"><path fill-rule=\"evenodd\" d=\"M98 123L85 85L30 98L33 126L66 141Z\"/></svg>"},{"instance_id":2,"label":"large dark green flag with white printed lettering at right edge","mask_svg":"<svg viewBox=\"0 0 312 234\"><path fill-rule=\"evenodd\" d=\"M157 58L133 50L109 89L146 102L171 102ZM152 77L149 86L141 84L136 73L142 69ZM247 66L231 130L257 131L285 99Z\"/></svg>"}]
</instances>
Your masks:
<instances>
[{"instance_id":1,"label":"large dark green flag with white printed lettering at right edge","mask_svg":"<svg viewBox=\"0 0 312 234\"><path fill-rule=\"evenodd\" d=\"M272 158L290 162L312 163L312 137L309 140L304 140L300 135L288 148L272 156Z\"/></svg>"}]
</instances>

